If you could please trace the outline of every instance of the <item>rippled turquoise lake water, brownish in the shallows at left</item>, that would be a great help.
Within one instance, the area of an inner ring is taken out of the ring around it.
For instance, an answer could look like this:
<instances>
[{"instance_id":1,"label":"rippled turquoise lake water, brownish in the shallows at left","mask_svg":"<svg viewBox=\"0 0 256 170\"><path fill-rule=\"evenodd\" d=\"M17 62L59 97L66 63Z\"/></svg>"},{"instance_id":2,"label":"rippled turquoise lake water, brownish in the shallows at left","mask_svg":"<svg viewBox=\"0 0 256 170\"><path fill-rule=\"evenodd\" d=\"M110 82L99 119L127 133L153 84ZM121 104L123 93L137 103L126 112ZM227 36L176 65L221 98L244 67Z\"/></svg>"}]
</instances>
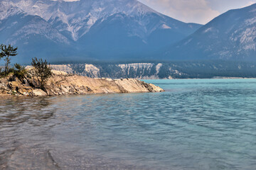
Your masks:
<instances>
[{"instance_id":1,"label":"rippled turquoise lake water, brownish in the shallows at left","mask_svg":"<svg viewBox=\"0 0 256 170\"><path fill-rule=\"evenodd\" d=\"M256 79L0 99L0 169L255 169Z\"/></svg>"}]
</instances>

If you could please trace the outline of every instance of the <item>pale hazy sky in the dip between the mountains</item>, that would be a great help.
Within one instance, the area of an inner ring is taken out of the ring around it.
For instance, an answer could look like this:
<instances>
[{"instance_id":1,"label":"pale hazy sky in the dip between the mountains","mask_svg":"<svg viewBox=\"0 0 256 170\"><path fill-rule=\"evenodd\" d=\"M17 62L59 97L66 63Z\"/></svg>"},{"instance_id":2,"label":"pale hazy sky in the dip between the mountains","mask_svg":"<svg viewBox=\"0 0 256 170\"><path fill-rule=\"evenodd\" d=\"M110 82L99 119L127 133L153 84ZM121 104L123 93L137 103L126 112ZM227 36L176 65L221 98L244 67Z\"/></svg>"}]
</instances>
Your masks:
<instances>
[{"instance_id":1,"label":"pale hazy sky in the dip between the mountains","mask_svg":"<svg viewBox=\"0 0 256 170\"><path fill-rule=\"evenodd\" d=\"M187 23L208 23L220 13L242 8L256 0L139 0L156 11Z\"/></svg>"}]
</instances>

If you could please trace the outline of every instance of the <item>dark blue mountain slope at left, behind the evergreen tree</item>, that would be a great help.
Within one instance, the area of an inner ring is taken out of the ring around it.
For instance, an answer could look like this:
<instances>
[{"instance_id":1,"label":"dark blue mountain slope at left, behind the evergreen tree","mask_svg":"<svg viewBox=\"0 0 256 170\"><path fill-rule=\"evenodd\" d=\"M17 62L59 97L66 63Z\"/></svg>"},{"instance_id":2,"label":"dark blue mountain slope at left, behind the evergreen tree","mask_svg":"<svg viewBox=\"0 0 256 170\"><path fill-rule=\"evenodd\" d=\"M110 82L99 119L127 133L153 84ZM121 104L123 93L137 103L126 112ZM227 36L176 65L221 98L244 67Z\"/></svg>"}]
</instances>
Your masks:
<instances>
[{"instance_id":1,"label":"dark blue mountain slope at left, behind the evergreen tree","mask_svg":"<svg viewBox=\"0 0 256 170\"><path fill-rule=\"evenodd\" d=\"M4 15L3 15L4 13ZM60 50L71 45L70 40L50 26L43 18L31 16L20 8L9 6L0 12L0 42L18 46L16 62L30 61L31 57L63 57ZM56 55L58 54L58 55Z\"/></svg>"}]
</instances>

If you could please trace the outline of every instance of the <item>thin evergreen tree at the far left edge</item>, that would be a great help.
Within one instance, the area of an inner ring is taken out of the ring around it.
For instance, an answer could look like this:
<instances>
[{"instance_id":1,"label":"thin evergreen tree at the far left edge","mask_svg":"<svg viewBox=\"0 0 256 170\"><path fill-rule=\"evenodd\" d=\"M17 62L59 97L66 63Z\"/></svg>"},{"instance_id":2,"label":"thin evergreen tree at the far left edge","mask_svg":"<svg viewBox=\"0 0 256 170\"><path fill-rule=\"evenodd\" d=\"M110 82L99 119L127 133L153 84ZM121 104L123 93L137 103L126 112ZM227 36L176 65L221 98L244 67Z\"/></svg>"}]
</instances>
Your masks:
<instances>
[{"instance_id":1,"label":"thin evergreen tree at the far left edge","mask_svg":"<svg viewBox=\"0 0 256 170\"><path fill-rule=\"evenodd\" d=\"M18 47L14 48L11 45L1 45L1 57L5 57L5 69L4 72L7 75L9 73L9 64L11 63L11 57L18 55L17 54Z\"/></svg>"}]
</instances>

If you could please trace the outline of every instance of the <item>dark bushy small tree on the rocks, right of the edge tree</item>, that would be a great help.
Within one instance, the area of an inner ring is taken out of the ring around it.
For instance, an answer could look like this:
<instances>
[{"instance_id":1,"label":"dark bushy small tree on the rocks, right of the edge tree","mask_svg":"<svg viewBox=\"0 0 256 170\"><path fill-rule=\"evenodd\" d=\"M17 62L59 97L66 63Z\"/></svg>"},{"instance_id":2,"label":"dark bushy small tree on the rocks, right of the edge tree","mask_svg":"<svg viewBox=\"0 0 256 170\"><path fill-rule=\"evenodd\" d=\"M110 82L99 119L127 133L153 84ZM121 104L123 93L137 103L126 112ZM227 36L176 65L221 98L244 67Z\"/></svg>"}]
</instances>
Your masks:
<instances>
[{"instance_id":1,"label":"dark bushy small tree on the rocks, right of the edge tree","mask_svg":"<svg viewBox=\"0 0 256 170\"><path fill-rule=\"evenodd\" d=\"M35 57L32 59L31 65L33 66L33 74L40 82L40 88L43 89L47 80L52 76L50 64L46 60L43 62L42 59L38 60Z\"/></svg>"}]
</instances>

